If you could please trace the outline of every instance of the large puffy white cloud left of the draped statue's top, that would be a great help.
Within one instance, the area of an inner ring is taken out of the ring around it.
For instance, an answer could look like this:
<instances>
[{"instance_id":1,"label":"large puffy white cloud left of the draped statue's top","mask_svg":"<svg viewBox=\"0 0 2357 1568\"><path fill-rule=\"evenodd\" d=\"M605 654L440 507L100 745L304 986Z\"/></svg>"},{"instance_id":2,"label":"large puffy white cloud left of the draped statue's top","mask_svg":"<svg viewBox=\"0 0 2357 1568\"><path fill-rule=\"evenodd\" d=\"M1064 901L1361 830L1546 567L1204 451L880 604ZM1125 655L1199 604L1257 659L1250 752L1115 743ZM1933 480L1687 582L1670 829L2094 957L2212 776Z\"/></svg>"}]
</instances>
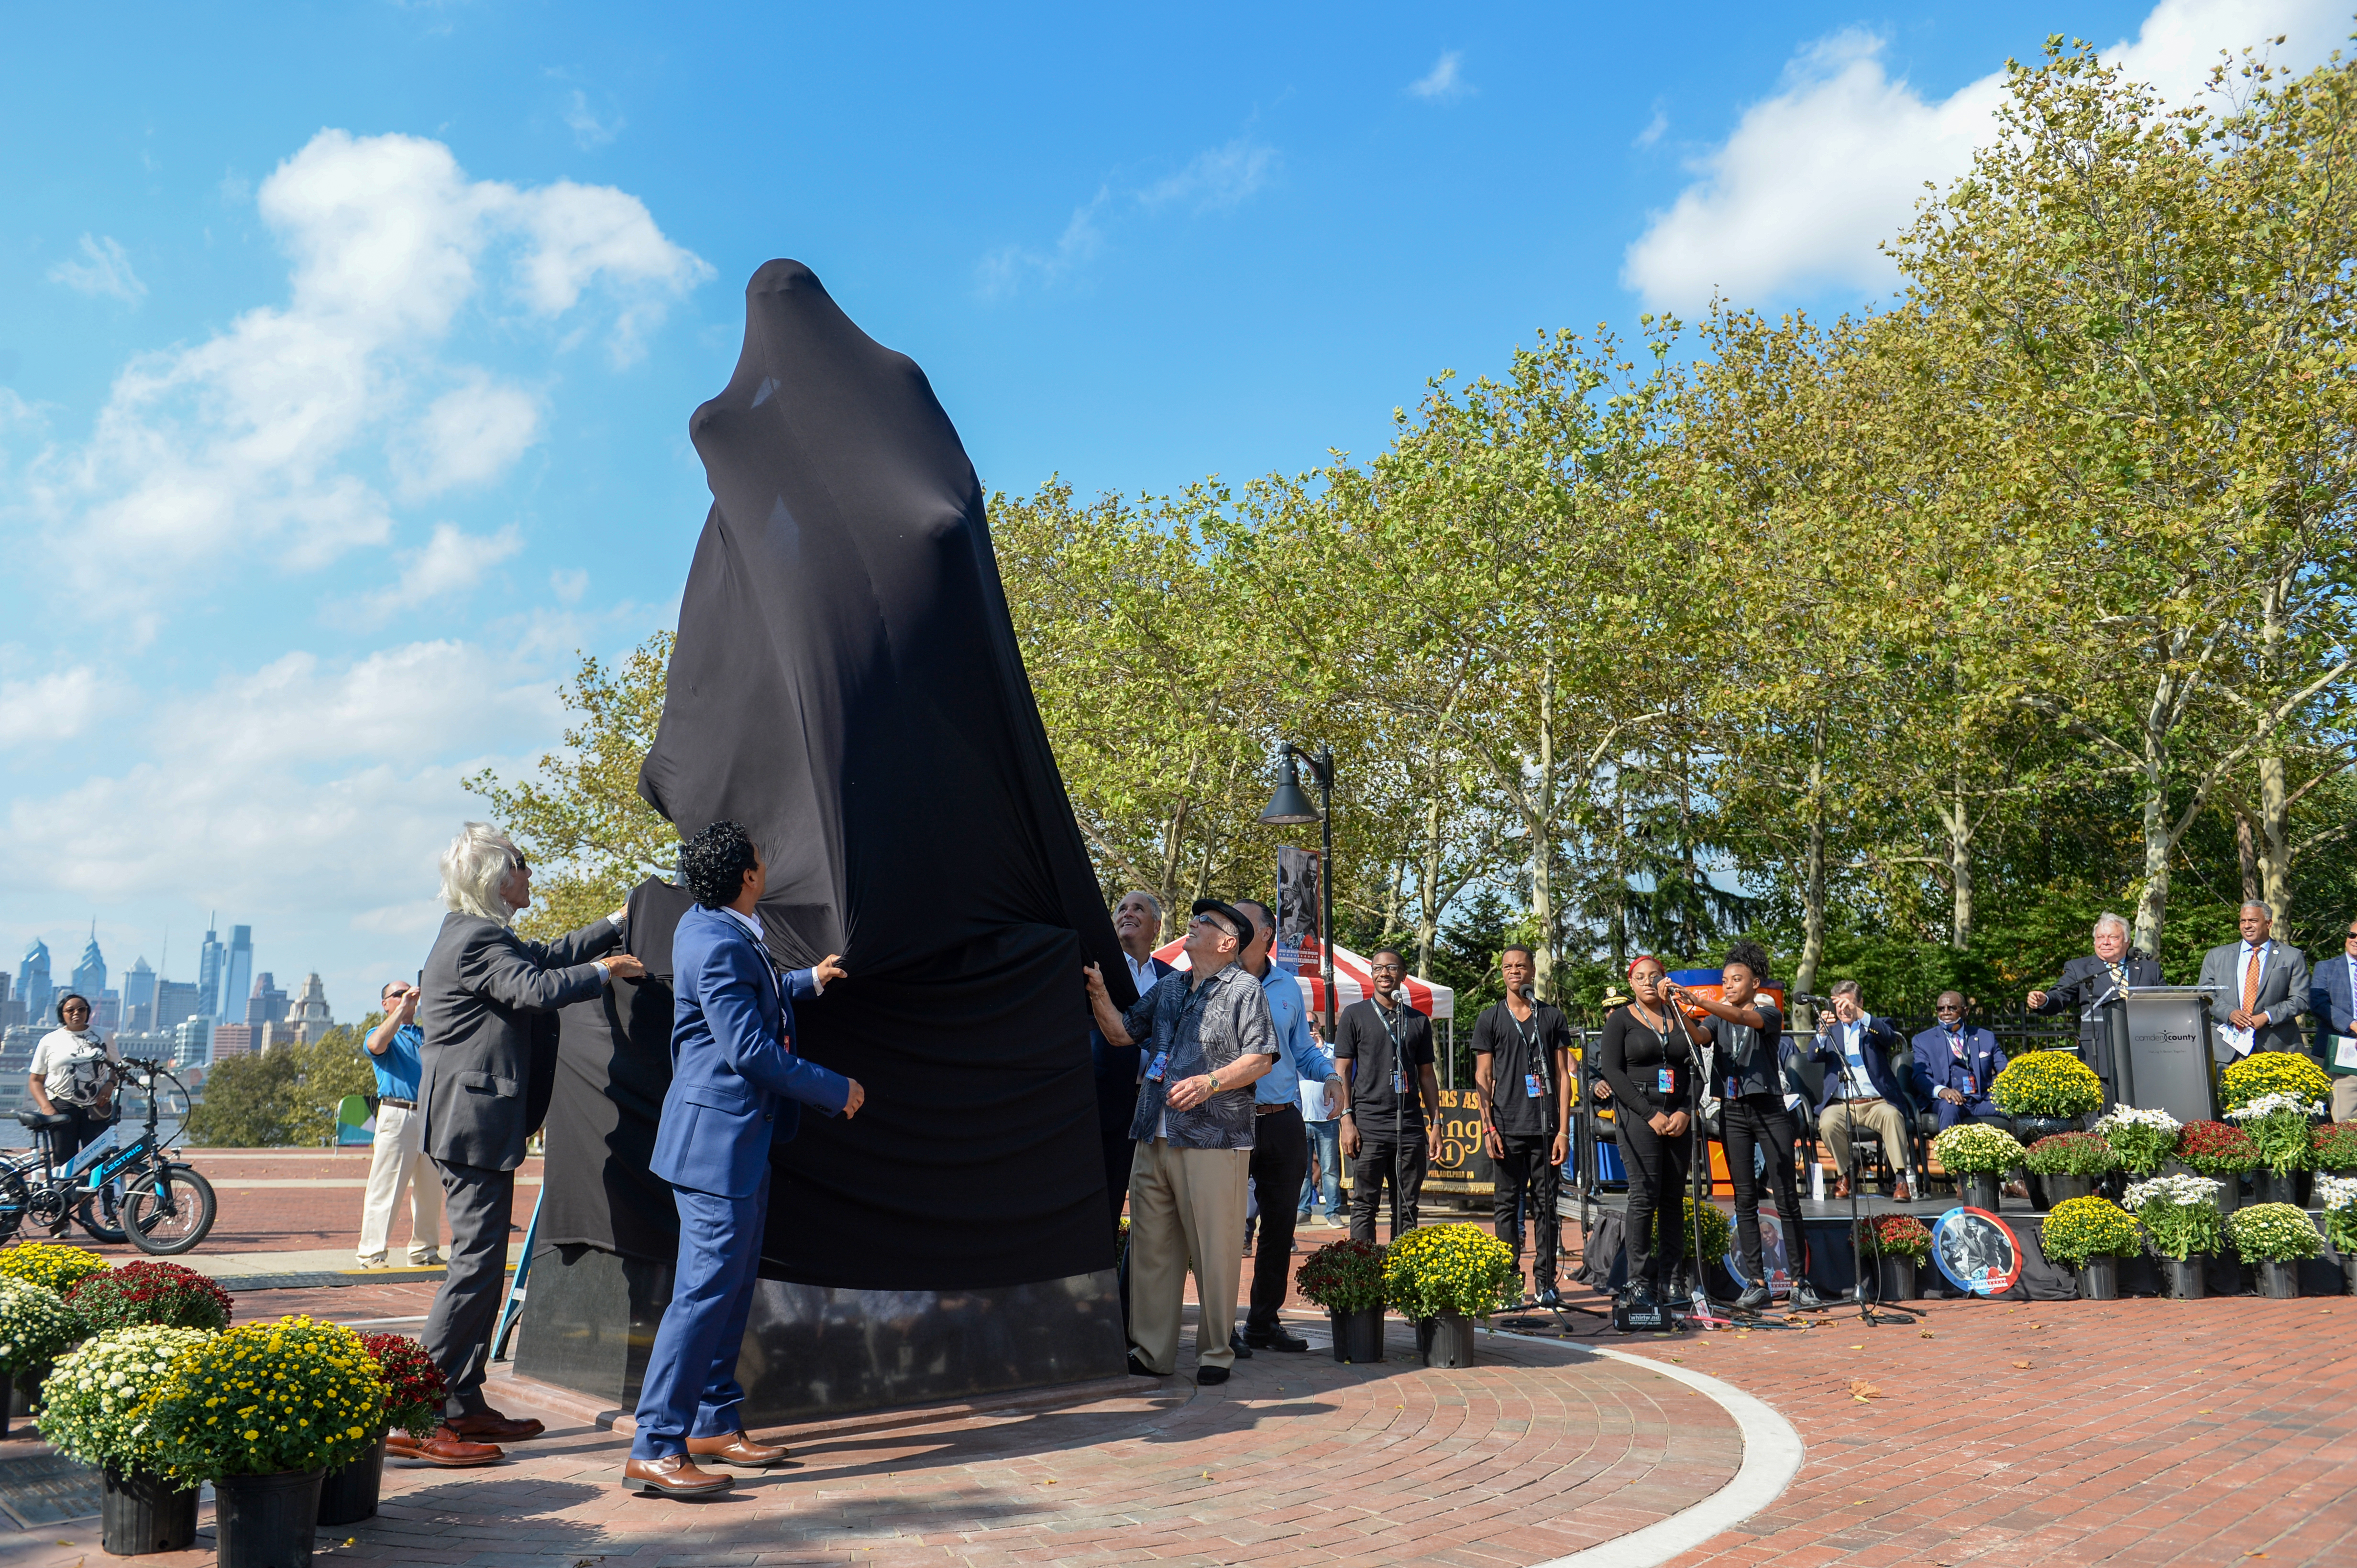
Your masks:
<instances>
[{"instance_id":1,"label":"large puffy white cloud left of the draped statue's top","mask_svg":"<svg viewBox=\"0 0 2357 1568\"><path fill-rule=\"evenodd\" d=\"M377 461L403 492L436 494L497 478L530 445L528 393L443 358L483 297L481 268L509 280L523 323L587 311L594 294L618 363L712 275L625 191L474 181L420 137L325 129L262 181L257 205L292 259L288 304L132 360L92 438L52 452L28 485L66 570L134 622L141 589L186 591L191 572L240 551L304 570L382 544L394 518ZM417 388L450 384L415 412ZM474 417L483 428L467 428Z\"/></svg>"}]
</instances>

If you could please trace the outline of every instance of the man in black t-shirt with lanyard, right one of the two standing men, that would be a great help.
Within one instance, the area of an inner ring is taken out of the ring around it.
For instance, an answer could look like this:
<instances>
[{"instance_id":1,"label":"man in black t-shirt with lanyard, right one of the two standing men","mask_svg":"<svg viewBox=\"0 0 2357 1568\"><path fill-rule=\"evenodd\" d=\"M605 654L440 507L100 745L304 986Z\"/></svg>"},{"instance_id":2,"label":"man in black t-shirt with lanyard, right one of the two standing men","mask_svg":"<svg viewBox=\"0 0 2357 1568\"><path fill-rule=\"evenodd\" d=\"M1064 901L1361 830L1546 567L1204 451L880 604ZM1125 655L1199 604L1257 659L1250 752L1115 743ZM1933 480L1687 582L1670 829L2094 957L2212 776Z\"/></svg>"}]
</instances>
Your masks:
<instances>
[{"instance_id":1,"label":"man in black t-shirt with lanyard, right one of the two standing men","mask_svg":"<svg viewBox=\"0 0 2357 1568\"><path fill-rule=\"evenodd\" d=\"M1506 1001L1490 1003L1473 1019L1473 1088L1480 1092L1483 1149L1497 1172L1497 1196L1490 1224L1497 1238L1513 1248L1523 1264L1523 1208L1530 1205L1532 1241L1530 1278L1539 1307L1560 1307L1556 1293L1556 1168L1567 1154L1570 1125L1567 1052L1572 1034L1563 1012L1530 1001L1537 961L1523 944L1508 946L1497 972L1506 979Z\"/></svg>"}]
</instances>

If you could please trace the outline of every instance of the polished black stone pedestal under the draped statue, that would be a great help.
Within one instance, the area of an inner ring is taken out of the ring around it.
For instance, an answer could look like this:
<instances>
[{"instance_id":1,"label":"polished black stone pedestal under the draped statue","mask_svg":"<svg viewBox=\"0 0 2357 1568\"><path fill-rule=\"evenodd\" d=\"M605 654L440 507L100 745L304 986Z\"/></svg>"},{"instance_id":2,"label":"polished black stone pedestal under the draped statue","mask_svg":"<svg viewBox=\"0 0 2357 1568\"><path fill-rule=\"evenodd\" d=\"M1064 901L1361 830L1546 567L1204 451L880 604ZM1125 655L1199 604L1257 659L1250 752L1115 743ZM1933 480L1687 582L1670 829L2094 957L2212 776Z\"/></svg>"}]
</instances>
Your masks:
<instances>
[{"instance_id":1,"label":"polished black stone pedestal under the draped statue","mask_svg":"<svg viewBox=\"0 0 2357 1568\"><path fill-rule=\"evenodd\" d=\"M672 1264L542 1248L526 1278L516 1375L639 1403ZM745 1427L785 1427L1061 1382L1127 1366L1113 1269L988 1290L832 1290L764 1278L738 1382Z\"/></svg>"}]
</instances>

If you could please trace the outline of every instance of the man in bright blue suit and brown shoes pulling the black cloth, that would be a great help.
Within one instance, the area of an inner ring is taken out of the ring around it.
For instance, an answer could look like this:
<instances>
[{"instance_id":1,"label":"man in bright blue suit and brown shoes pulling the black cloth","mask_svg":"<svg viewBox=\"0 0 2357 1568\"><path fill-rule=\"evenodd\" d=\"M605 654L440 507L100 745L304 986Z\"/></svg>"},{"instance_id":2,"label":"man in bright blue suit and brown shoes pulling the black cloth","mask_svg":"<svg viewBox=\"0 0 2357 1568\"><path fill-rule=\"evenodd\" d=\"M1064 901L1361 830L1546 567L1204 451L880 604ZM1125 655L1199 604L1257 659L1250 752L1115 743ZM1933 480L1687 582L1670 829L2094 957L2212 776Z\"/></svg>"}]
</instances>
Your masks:
<instances>
[{"instance_id":1,"label":"man in bright blue suit and brown shoes pulling the black cloth","mask_svg":"<svg viewBox=\"0 0 2357 1568\"><path fill-rule=\"evenodd\" d=\"M794 1001L816 998L844 970L830 954L813 970L778 975L754 913L766 871L735 822L714 822L679 848L695 909L672 937L672 1088L651 1163L679 1205L679 1269L622 1467L643 1493L728 1490L726 1471L695 1460L785 1460L785 1448L745 1436L735 1380L768 1217L768 1149L794 1137L799 1107L853 1116L865 1099L858 1081L794 1055Z\"/></svg>"}]
</instances>

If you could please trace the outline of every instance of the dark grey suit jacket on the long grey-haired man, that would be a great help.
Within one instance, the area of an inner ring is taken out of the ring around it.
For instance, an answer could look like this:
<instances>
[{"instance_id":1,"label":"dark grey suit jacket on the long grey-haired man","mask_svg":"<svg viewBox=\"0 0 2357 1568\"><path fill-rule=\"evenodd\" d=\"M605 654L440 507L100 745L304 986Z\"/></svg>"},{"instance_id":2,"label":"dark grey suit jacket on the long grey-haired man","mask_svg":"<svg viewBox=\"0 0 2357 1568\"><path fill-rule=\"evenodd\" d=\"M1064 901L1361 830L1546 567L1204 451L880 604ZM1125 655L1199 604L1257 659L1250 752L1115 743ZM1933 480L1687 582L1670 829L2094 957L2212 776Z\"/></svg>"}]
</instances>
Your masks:
<instances>
[{"instance_id":1,"label":"dark grey suit jacket on the long grey-haired man","mask_svg":"<svg viewBox=\"0 0 2357 1568\"><path fill-rule=\"evenodd\" d=\"M443 916L417 1005L427 1154L488 1170L523 1163L556 1088L556 1010L603 991L589 961L620 946L613 921L526 942L497 921Z\"/></svg>"}]
</instances>

